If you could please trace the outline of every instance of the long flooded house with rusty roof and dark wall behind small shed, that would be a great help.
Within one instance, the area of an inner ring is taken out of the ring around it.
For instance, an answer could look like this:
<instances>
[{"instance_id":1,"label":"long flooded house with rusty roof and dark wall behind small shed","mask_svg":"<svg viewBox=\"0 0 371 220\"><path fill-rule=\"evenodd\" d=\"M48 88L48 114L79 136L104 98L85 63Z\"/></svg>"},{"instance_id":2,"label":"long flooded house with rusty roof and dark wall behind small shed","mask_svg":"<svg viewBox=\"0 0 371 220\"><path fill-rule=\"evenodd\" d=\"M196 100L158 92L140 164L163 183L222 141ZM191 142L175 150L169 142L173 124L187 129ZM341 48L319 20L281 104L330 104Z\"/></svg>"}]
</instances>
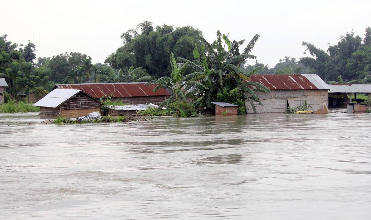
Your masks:
<instances>
[{"instance_id":1,"label":"long flooded house with rusty roof and dark wall behind small shed","mask_svg":"<svg viewBox=\"0 0 371 220\"><path fill-rule=\"evenodd\" d=\"M111 97L112 101L122 101L127 104L160 104L168 99L172 93L166 89L159 89L155 93L156 85L145 86L145 83L80 83L56 84L58 89L79 89L89 96L99 99Z\"/></svg>"}]
</instances>

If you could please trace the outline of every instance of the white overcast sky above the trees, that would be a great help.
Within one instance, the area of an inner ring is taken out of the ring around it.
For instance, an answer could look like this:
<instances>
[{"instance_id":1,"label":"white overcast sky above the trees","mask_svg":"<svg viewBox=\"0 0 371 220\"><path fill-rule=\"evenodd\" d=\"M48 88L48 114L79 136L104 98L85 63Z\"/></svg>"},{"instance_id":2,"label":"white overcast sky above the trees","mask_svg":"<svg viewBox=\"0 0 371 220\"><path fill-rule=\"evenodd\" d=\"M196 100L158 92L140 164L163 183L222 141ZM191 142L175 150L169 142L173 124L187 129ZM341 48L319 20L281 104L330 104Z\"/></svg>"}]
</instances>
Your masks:
<instances>
[{"instance_id":1,"label":"white overcast sky above the trees","mask_svg":"<svg viewBox=\"0 0 371 220\"><path fill-rule=\"evenodd\" d=\"M231 40L260 40L252 54L273 67L280 58L306 56L302 41L327 49L354 29L364 37L371 26L371 1L14 1L1 3L0 34L26 44L33 39L37 57L75 51L101 62L122 46L121 33L149 20L156 25L191 25L209 42L216 31ZM243 47L243 46L242 46ZM250 61L255 63L255 61Z\"/></svg>"}]
</instances>

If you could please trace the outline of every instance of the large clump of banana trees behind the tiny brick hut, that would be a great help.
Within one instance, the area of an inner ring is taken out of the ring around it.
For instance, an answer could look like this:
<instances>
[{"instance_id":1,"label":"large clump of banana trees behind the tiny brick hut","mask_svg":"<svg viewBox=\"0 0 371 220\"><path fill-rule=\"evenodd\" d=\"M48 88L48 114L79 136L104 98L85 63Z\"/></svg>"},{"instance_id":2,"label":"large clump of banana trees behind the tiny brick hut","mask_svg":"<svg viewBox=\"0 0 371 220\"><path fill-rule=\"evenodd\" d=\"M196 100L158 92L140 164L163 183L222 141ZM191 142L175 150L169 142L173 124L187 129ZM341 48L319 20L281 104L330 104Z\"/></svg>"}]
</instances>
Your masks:
<instances>
[{"instance_id":1,"label":"large clump of banana trees behind the tiny brick hut","mask_svg":"<svg viewBox=\"0 0 371 220\"><path fill-rule=\"evenodd\" d=\"M184 77L187 82L200 82L204 85L201 92L198 94L200 100L196 102L196 106L201 109L208 109L213 111L212 101L216 100L218 92L223 91L223 89L232 90L239 88L240 92L243 93L245 100L258 102L259 97L256 95L256 91L262 91L264 93L269 92L265 86L260 83L251 82L250 75L256 73L257 70L263 67L259 66L249 73L244 73L240 69L242 63L247 59L255 59L256 56L250 54L256 41L259 39L259 35L255 35L252 40L250 40L247 47L240 54L239 47L244 43L245 40L241 41L230 41L227 36L223 35L223 40L228 46L226 51L222 46L221 42L222 36L220 31L217 31L217 40L213 44L209 44L205 39L201 39L202 46L199 51L197 45L193 51L194 58L197 60L187 60L178 57L183 64L188 64L195 73L188 74Z\"/></svg>"}]
</instances>

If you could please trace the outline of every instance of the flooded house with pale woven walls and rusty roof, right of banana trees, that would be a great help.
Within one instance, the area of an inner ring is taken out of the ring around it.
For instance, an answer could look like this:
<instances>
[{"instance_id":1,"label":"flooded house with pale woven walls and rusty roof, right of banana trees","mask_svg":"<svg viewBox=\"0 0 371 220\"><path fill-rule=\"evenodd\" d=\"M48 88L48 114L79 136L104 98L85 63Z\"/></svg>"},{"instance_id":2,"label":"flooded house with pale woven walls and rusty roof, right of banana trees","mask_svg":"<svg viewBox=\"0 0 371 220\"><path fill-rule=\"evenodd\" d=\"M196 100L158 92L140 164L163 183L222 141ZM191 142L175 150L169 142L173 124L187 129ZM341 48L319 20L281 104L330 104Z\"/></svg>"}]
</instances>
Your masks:
<instances>
[{"instance_id":1,"label":"flooded house with pale woven walls and rusty roof, right of banana trees","mask_svg":"<svg viewBox=\"0 0 371 220\"><path fill-rule=\"evenodd\" d=\"M307 100L316 111L321 103L328 104L330 87L316 74L303 75L253 75L250 81L258 82L270 89L270 93L257 92L260 102L254 103L257 113L285 112L287 107L298 107ZM254 88L254 87L251 87ZM245 102L247 113L254 113L249 101Z\"/></svg>"}]
</instances>

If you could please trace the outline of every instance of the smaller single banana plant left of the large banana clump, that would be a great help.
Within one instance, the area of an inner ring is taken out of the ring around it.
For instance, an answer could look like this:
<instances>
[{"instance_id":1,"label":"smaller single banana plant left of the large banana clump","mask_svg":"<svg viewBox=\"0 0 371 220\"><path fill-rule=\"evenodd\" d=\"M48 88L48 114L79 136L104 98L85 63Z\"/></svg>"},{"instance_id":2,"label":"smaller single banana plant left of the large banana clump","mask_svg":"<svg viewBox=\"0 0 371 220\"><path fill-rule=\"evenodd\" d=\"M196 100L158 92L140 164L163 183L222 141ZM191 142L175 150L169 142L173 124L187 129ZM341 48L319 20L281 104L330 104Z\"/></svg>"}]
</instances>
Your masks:
<instances>
[{"instance_id":1,"label":"smaller single banana plant left of the large banana clump","mask_svg":"<svg viewBox=\"0 0 371 220\"><path fill-rule=\"evenodd\" d=\"M164 106L169 107L170 103L174 102L176 109L175 115L177 117L188 117L181 108L181 103L187 102L186 97L194 97L194 94L200 92L197 88L203 88L204 85L196 81L187 81L185 79L184 73L187 70L188 63L177 65L173 53L170 54L170 66L170 77L163 76L158 80L149 81L145 85L157 84L153 89L154 92L159 89L170 89L174 92L174 95L170 96L158 106L158 110L162 109Z\"/></svg>"}]
</instances>

